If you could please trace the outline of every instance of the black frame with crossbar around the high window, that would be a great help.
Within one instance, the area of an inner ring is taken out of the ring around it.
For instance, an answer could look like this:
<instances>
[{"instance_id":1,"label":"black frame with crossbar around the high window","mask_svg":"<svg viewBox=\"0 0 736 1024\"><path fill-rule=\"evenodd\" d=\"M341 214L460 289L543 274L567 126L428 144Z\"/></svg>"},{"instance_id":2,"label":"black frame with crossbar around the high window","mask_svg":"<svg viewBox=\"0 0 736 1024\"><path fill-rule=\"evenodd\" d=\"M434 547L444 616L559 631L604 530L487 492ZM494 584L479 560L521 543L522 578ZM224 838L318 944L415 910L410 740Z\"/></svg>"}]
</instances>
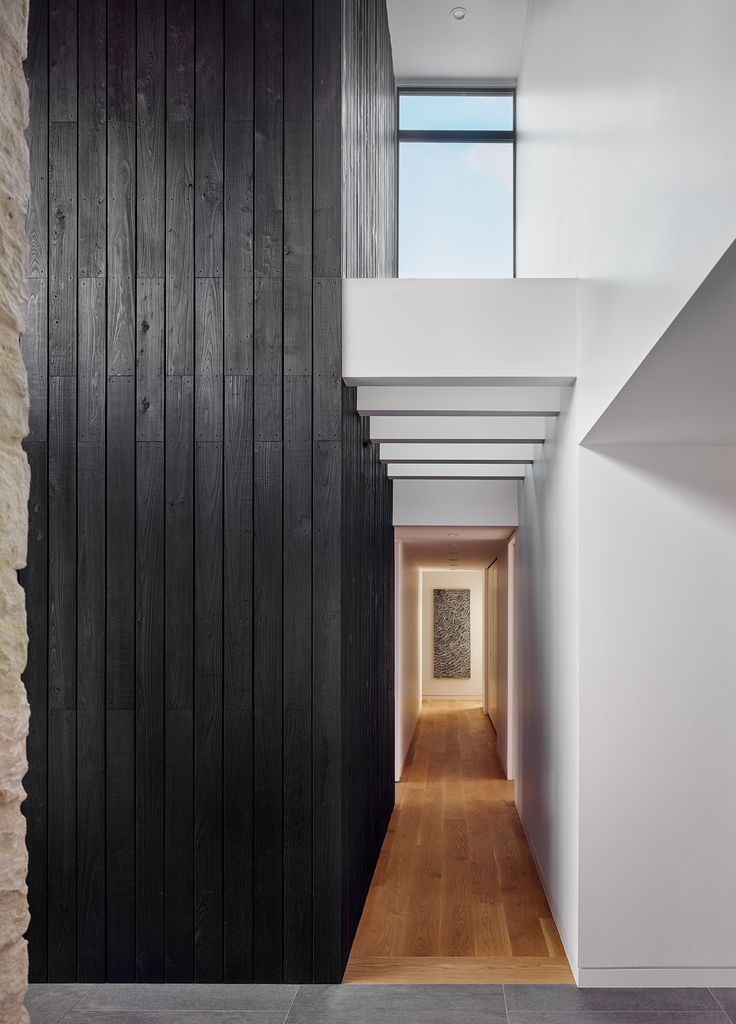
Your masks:
<instances>
[{"instance_id":1,"label":"black frame with crossbar around the high window","mask_svg":"<svg viewBox=\"0 0 736 1024\"><path fill-rule=\"evenodd\" d=\"M441 128L401 128L401 96L511 96L512 127L504 131L483 131L470 128L452 130ZM512 262L513 278L516 278L516 89L508 87L482 86L468 88L443 88L442 86L399 86L396 89L396 274L399 272L398 238L401 229L399 205L399 178L401 174L402 142L501 142L512 146Z\"/></svg>"}]
</instances>

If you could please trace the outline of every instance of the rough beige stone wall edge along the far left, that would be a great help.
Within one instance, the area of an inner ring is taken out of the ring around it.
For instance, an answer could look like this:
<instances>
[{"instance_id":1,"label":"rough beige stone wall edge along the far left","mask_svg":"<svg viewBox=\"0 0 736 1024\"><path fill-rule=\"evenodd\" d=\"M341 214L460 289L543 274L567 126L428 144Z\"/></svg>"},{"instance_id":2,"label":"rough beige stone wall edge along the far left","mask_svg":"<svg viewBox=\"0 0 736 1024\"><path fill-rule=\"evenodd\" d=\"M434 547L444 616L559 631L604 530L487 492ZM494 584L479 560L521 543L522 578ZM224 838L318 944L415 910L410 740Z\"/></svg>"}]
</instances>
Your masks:
<instances>
[{"instance_id":1,"label":"rough beige stone wall edge along the far left","mask_svg":"<svg viewBox=\"0 0 736 1024\"><path fill-rule=\"evenodd\" d=\"M26 317L28 89L23 72L27 0L0 0L0 1024L28 1021L26 736L29 707L20 673L28 637L17 570L26 563L30 471L28 387L19 336Z\"/></svg>"}]
</instances>

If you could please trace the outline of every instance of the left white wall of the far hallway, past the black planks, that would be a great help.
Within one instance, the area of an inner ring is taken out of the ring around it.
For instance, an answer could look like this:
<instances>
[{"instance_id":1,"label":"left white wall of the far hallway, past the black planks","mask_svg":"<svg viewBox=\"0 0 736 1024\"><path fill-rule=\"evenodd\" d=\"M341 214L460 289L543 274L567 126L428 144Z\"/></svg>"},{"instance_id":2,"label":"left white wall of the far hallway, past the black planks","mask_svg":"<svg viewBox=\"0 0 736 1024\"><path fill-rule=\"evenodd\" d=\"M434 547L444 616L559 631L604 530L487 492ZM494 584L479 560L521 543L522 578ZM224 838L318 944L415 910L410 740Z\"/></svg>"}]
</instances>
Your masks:
<instances>
[{"instance_id":1,"label":"left white wall of the far hallway, past the black planks","mask_svg":"<svg viewBox=\"0 0 736 1024\"><path fill-rule=\"evenodd\" d=\"M395 601L395 777L401 777L422 708L422 572L402 541L394 544Z\"/></svg>"}]
</instances>

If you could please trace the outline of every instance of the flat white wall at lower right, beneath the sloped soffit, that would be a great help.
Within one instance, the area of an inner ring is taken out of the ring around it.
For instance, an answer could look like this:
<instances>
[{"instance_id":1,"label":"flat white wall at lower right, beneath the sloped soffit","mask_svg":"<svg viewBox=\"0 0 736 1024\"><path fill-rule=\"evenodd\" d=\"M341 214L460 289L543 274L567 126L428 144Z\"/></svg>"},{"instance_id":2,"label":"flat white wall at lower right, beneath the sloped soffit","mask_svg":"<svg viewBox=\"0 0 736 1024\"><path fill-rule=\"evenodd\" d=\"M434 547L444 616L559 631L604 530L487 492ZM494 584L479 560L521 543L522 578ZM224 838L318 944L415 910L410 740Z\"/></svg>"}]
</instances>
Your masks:
<instances>
[{"instance_id":1,"label":"flat white wall at lower right, beneath the sloped soffit","mask_svg":"<svg viewBox=\"0 0 736 1024\"><path fill-rule=\"evenodd\" d=\"M586 983L736 983L735 580L736 449L581 451Z\"/></svg>"}]
</instances>

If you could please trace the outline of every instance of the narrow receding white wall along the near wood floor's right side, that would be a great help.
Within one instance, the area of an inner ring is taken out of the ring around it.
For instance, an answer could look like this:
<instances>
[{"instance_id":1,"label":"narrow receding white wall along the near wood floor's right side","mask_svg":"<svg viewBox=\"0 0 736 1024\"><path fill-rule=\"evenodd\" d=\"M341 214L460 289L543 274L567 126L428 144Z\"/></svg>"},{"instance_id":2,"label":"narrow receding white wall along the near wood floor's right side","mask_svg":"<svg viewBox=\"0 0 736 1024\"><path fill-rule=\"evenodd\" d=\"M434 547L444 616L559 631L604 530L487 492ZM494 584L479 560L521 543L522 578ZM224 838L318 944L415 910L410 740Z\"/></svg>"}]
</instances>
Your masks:
<instances>
[{"instance_id":1,"label":"narrow receding white wall along the near wood floor's right side","mask_svg":"<svg viewBox=\"0 0 736 1024\"><path fill-rule=\"evenodd\" d=\"M573 972L578 950L577 446L574 399L520 485L516 801Z\"/></svg>"}]
</instances>

